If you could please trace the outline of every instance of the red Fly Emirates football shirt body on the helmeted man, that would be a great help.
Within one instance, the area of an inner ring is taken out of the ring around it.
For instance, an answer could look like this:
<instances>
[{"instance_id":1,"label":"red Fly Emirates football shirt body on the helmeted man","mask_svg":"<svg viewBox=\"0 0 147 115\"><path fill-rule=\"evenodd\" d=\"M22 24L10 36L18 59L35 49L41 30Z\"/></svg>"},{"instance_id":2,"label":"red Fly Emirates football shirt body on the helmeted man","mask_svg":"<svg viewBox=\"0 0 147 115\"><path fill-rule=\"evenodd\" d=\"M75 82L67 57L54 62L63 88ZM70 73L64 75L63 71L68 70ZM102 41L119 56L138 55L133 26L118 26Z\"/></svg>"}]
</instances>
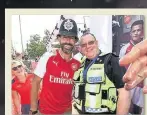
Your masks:
<instances>
[{"instance_id":1,"label":"red Fly Emirates football shirt body on the helmeted man","mask_svg":"<svg viewBox=\"0 0 147 115\"><path fill-rule=\"evenodd\" d=\"M63 114L72 102L73 75L80 62L66 62L57 51L48 57L43 76L39 110L43 114Z\"/></svg>"}]
</instances>

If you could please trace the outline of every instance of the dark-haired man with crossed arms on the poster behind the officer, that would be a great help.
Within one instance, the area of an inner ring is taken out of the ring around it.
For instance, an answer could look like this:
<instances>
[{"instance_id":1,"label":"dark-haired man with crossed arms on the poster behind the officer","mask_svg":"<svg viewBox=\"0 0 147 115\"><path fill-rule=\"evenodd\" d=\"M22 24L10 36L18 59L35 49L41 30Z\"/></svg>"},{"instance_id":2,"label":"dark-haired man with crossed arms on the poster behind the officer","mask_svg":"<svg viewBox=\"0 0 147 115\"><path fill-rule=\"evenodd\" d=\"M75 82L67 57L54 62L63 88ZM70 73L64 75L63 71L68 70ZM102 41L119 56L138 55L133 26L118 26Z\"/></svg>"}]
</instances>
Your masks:
<instances>
[{"instance_id":1,"label":"dark-haired man with crossed arms on the poster behind the officer","mask_svg":"<svg viewBox=\"0 0 147 115\"><path fill-rule=\"evenodd\" d=\"M128 44L123 46L120 50L119 57L122 58L125 54L131 51L134 45L141 42L144 37L144 28L143 28L143 20L137 20L135 21L131 26L131 40ZM126 68L128 68L126 66ZM140 114L140 110L137 106L143 108L143 92L142 92L143 82L140 83L137 87L131 90L132 95L132 103L134 106L132 106L132 110L130 111L133 114ZM137 105L137 106L136 106ZM136 108L137 107L137 108Z\"/></svg>"}]
</instances>

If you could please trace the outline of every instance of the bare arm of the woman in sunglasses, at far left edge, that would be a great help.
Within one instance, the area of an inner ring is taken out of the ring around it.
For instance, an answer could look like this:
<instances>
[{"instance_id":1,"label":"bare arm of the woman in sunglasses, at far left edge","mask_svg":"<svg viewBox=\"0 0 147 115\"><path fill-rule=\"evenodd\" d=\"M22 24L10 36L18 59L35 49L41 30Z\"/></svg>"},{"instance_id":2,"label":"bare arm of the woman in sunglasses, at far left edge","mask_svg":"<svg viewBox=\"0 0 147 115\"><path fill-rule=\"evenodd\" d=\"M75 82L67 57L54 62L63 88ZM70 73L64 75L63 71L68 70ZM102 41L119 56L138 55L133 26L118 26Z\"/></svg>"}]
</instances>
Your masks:
<instances>
[{"instance_id":1,"label":"bare arm of the woman in sunglasses, at far left edge","mask_svg":"<svg viewBox=\"0 0 147 115\"><path fill-rule=\"evenodd\" d=\"M17 114L20 114L21 113L20 98L18 93L15 90L12 90L12 99L13 99L14 107L16 108Z\"/></svg>"}]
</instances>

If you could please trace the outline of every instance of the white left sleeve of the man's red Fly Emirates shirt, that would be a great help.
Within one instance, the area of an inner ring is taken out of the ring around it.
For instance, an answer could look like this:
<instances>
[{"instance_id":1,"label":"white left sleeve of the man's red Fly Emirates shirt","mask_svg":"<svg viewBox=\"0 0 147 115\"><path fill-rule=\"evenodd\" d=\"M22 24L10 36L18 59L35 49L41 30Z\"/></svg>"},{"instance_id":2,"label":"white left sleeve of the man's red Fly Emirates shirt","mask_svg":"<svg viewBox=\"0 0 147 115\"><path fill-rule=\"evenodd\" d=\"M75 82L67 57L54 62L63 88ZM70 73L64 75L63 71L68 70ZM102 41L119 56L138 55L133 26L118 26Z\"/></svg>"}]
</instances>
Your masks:
<instances>
[{"instance_id":1,"label":"white left sleeve of the man's red Fly Emirates shirt","mask_svg":"<svg viewBox=\"0 0 147 115\"><path fill-rule=\"evenodd\" d=\"M49 52L46 52L43 54L43 56L38 61L38 64L34 70L35 75L37 75L40 78L44 77L44 74L46 72L46 64L47 64L47 61L50 58L50 56L51 56L51 53L49 53Z\"/></svg>"}]
</instances>

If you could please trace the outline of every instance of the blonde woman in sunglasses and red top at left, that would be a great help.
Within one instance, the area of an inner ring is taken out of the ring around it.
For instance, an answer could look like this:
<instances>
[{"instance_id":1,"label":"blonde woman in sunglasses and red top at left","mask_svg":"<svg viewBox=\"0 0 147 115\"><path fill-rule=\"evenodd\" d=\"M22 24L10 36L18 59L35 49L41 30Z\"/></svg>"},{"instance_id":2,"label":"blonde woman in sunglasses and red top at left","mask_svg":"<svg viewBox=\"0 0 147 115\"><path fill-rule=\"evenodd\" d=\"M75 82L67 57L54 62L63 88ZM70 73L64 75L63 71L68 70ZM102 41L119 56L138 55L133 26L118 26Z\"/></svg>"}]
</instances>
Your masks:
<instances>
[{"instance_id":1,"label":"blonde woman in sunglasses and red top at left","mask_svg":"<svg viewBox=\"0 0 147 115\"><path fill-rule=\"evenodd\" d=\"M20 61L12 61L12 73L15 76L12 80L12 99L17 114L29 114L30 92L34 74L27 74ZM21 106L21 109L20 109Z\"/></svg>"}]
</instances>

